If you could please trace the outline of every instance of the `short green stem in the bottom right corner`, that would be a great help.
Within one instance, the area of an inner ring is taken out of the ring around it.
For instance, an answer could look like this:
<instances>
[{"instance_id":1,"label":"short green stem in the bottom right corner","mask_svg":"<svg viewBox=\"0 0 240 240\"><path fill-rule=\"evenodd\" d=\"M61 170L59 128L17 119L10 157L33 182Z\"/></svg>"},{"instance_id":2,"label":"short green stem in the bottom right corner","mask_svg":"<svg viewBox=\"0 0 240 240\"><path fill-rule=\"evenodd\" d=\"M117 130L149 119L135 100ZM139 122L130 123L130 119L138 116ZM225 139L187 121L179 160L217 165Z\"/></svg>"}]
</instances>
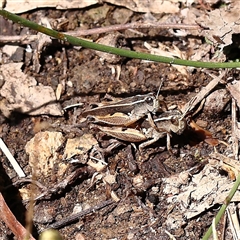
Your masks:
<instances>
[{"instance_id":1,"label":"short green stem in the bottom right corner","mask_svg":"<svg viewBox=\"0 0 240 240\"><path fill-rule=\"evenodd\" d=\"M237 189L239 187L239 184L240 184L240 174L238 175L237 180L234 183L230 193L226 197L226 199L224 201L224 204L222 205L222 207L220 208L218 214L216 215L216 225L219 223L219 221L220 221L221 217L223 216L227 206L231 202L235 192L237 191ZM211 235L212 235L212 226L209 227L208 231L205 233L205 235L203 236L202 240L207 240Z\"/></svg>"}]
</instances>

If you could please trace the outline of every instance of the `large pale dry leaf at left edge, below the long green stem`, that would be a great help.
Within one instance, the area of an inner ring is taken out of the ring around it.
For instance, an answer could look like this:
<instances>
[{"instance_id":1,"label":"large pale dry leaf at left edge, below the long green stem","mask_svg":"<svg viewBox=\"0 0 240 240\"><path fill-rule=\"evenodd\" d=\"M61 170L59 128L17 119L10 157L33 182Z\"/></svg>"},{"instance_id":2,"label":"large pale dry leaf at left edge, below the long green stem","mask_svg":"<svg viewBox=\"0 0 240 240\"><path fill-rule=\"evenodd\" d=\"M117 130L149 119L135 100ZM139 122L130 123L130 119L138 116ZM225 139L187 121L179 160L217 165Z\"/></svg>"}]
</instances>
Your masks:
<instances>
[{"instance_id":1,"label":"large pale dry leaf at left edge, below the long green stem","mask_svg":"<svg viewBox=\"0 0 240 240\"><path fill-rule=\"evenodd\" d=\"M62 116L60 104L56 103L56 96L49 86L39 85L37 81L21 70L22 63L8 63L0 66L4 84L0 95L4 99L0 102L0 109L5 117L11 112L29 115L48 114Z\"/></svg>"}]
</instances>

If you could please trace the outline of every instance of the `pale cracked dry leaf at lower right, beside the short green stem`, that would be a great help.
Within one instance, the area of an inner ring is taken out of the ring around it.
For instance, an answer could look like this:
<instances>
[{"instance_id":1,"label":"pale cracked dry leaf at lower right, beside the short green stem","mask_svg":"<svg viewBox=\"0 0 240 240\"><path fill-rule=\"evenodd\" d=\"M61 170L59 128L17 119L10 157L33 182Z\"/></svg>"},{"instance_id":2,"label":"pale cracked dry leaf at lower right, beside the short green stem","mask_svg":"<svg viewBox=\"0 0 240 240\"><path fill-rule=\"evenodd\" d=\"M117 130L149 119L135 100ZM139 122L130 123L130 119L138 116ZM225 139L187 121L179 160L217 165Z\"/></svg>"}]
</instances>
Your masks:
<instances>
[{"instance_id":1,"label":"pale cracked dry leaf at lower right, beside the short green stem","mask_svg":"<svg viewBox=\"0 0 240 240\"><path fill-rule=\"evenodd\" d=\"M180 209L178 212L169 214L168 218L172 218L172 214L177 214L179 218L187 219L196 217L215 204L222 204L234 184L210 165L206 165L200 173L193 175L188 186L183 184L177 176L165 178L163 182L164 193L171 195L167 201L174 202L175 205L179 203L178 209ZM179 191L176 193L172 188L178 188ZM174 196L172 196L173 192L175 192ZM239 200L240 191L237 190L232 201Z\"/></svg>"}]
</instances>

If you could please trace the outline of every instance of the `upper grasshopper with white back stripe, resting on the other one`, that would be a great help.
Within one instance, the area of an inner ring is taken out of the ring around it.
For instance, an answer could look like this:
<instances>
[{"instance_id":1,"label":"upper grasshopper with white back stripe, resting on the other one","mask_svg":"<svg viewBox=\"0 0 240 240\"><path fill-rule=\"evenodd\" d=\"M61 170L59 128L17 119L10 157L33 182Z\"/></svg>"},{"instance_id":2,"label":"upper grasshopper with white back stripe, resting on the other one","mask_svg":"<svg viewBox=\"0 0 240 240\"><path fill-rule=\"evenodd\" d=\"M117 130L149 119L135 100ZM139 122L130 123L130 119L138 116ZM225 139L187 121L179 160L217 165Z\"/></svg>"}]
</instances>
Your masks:
<instances>
[{"instance_id":1,"label":"upper grasshopper with white back stripe, resting on the other one","mask_svg":"<svg viewBox=\"0 0 240 240\"><path fill-rule=\"evenodd\" d=\"M156 114L165 109L165 102L149 93L86 110L82 116L88 117L93 123L127 127L145 116L151 121L152 113Z\"/></svg>"}]
</instances>

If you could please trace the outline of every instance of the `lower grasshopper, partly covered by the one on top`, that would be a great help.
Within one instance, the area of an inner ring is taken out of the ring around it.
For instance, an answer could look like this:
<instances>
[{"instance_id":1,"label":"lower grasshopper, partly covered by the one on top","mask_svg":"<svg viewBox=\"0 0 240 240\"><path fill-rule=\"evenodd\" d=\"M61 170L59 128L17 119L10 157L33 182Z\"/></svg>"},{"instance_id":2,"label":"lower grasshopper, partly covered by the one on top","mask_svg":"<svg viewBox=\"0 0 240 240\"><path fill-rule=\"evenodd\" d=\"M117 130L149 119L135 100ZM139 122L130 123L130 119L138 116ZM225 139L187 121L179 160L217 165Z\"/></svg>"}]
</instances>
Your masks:
<instances>
[{"instance_id":1,"label":"lower grasshopper, partly covered by the one on top","mask_svg":"<svg viewBox=\"0 0 240 240\"><path fill-rule=\"evenodd\" d=\"M156 116L153 119L154 126L150 121L149 119L144 119L140 130L124 127L111 128L95 124L92 126L98 128L107 135L123 141L143 142L139 145L140 152L142 152L145 147L153 144L165 136L167 137L167 149L171 150L171 132L180 135L187 126L186 119L179 110L165 111L159 116Z\"/></svg>"}]
</instances>

